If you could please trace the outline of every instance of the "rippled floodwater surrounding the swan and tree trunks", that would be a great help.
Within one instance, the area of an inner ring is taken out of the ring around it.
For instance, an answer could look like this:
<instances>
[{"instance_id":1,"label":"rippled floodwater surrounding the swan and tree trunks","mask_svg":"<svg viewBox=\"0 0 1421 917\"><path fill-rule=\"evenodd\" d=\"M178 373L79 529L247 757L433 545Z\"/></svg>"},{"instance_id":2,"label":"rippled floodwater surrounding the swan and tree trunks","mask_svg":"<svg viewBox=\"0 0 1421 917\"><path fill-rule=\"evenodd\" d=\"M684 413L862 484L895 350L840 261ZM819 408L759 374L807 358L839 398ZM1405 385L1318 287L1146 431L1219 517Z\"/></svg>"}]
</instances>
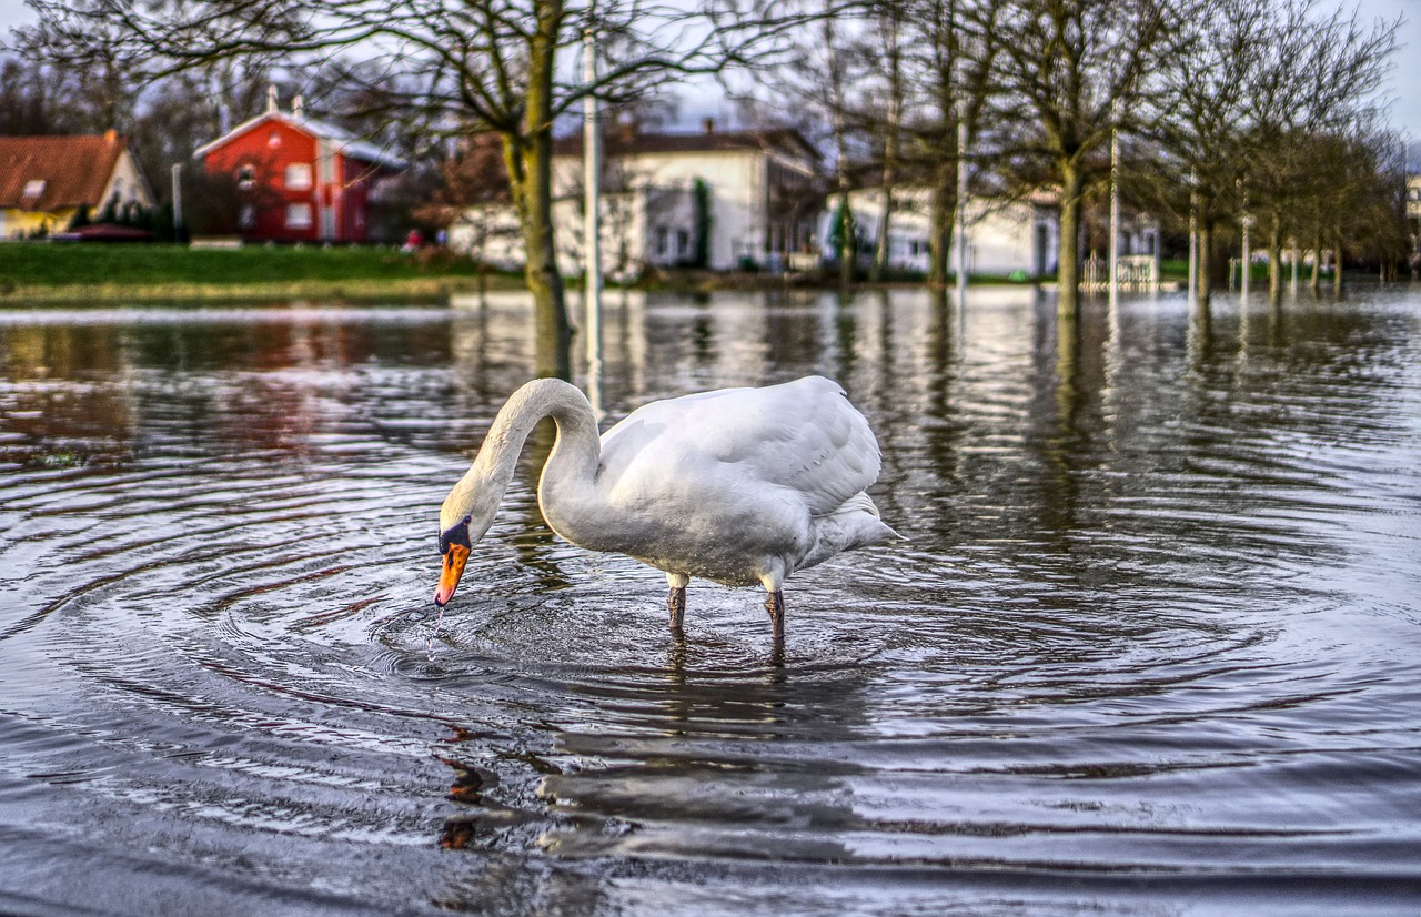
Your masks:
<instances>
[{"instance_id":1,"label":"rippled floodwater surrounding the swan and tree trunks","mask_svg":"<svg viewBox=\"0 0 1421 917\"><path fill-rule=\"evenodd\" d=\"M821 372L878 431L907 540L783 660L551 536L547 431L439 618L527 324L0 313L0 911L1421 910L1417 287L610 297L608 424Z\"/></svg>"}]
</instances>

